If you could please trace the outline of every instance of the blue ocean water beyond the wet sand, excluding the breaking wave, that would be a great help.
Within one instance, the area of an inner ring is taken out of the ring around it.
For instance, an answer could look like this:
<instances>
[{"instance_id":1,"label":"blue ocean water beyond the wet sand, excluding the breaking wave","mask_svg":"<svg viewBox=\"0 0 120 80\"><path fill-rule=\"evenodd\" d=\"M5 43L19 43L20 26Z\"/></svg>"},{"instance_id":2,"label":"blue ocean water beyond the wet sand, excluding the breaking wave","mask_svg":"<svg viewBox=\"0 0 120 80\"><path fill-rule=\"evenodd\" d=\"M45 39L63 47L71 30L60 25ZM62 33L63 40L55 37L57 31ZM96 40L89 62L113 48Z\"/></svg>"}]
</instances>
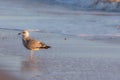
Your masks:
<instances>
[{"instance_id":1,"label":"blue ocean water beyond the wet sand, excluding the breaking wave","mask_svg":"<svg viewBox=\"0 0 120 80\"><path fill-rule=\"evenodd\" d=\"M95 1L97 0L88 0L87 3L84 0L0 0L0 28L74 36L119 36L119 12L103 12L97 6L97 10L90 11L85 7ZM77 7L73 4L77 3L84 4L79 6L84 11L76 10Z\"/></svg>"}]
</instances>

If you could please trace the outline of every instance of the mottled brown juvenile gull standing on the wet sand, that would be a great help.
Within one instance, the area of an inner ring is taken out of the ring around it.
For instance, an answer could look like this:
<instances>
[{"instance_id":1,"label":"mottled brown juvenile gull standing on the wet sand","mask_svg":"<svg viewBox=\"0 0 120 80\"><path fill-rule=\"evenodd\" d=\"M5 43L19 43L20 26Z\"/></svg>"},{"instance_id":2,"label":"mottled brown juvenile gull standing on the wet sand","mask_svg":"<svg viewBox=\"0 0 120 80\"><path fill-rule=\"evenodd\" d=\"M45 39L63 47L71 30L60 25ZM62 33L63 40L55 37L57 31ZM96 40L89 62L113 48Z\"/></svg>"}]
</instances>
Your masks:
<instances>
[{"instance_id":1,"label":"mottled brown juvenile gull standing on the wet sand","mask_svg":"<svg viewBox=\"0 0 120 80\"><path fill-rule=\"evenodd\" d=\"M50 46L47 46L45 43L29 37L29 31L27 30L18 33L18 35L22 35L23 45L24 47L26 47L28 50L31 51L31 55L30 55L31 58L34 56L34 51L50 48Z\"/></svg>"}]
</instances>

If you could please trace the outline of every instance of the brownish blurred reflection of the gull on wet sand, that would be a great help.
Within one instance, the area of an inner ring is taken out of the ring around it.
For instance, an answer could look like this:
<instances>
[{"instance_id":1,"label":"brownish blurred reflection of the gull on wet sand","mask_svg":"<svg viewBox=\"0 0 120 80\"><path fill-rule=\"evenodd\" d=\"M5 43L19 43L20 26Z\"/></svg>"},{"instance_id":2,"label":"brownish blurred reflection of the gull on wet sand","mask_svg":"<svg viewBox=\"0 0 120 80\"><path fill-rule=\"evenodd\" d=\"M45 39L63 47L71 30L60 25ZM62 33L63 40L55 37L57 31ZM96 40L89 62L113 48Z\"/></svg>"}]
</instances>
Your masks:
<instances>
[{"instance_id":1,"label":"brownish blurred reflection of the gull on wet sand","mask_svg":"<svg viewBox=\"0 0 120 80\"><path fill-rule=\"evenodd\" d=\"M29 57L29 59L22 61L21 71L25 78L35 76L40 72L40 63L33 56Z\"/></svg>"}]
</instances>

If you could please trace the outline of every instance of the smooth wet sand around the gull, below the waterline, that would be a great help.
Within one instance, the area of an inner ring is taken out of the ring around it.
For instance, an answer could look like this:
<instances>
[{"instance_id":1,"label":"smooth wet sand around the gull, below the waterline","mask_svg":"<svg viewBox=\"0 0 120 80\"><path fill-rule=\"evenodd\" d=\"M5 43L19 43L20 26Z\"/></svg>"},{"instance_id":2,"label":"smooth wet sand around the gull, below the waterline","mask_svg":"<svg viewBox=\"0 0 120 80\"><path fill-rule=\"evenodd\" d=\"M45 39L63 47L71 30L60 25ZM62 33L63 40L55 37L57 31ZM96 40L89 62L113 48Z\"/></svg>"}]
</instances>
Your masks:
<instances>
[{"instance_id":1,"label":"smooth wet sand around the gull, below the waterline","mask_svg":"<svg viewBox=\"0 0 120 80\"><path fill-rule=\"evenodd\" d=\"M54 33L31 32L31 36L52 46L29 51L17 35L0 30L0 70L25 80L119 80L120 45L84 40Z\"/></svg>"}]
</instances>

